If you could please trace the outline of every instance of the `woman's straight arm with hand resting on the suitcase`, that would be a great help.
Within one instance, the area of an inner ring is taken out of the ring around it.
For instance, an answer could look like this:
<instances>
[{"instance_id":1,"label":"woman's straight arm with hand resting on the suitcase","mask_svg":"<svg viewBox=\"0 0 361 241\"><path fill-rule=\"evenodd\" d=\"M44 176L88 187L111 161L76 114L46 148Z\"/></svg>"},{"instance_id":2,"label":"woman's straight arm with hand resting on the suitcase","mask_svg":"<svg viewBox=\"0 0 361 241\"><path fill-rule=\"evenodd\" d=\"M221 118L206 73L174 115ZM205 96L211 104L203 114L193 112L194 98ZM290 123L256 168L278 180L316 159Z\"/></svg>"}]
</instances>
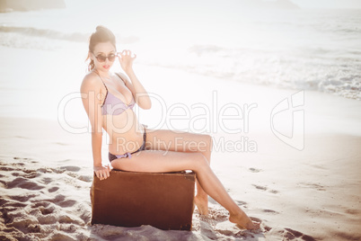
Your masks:
<instances>
[{"instance_id":1,"label":"woman's straight arm with hand resting on the suitcase","mask_svg":"<svg viewBox=\"0 0 361 241\"><path fill-rule=\"evenodd\" d=\"M102 117L101 101L105 94L101 94L101 82L93 76L85 76L81 85L82 100L85 112L92 125L92 159L94 172L98 178L110 176L110 166L101 165ZM101 97L103 96L103 97Z\"/></svg>"}]
</instances>

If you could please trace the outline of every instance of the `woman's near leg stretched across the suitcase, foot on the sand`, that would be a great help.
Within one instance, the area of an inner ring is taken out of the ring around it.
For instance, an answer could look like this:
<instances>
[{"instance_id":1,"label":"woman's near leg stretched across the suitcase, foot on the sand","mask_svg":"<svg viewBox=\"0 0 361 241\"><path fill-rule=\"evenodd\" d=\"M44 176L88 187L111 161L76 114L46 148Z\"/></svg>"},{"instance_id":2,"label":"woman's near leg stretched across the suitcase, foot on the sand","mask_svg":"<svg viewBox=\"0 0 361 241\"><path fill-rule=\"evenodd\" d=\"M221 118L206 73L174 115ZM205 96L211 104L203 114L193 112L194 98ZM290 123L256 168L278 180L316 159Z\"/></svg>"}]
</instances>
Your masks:
<instances>
[{"instance_id":1,"label":"woman's near leg stretched across the suitcase, foot on the sand","mask_svg":"<svg viewBox=\"0 0 361 241\"><path fill-rule=\"evenodd\" d=\"M260 224L252 222L232 200L208 165L206 157L201 153L144 150L136 153L131 158L115 159L111 165L116 169L133 172L163 173L193 170L196 172L198 181L204 191L230 212L229 220L231 222L247 229L260 228Z\"/></svg>"}]
</instances>

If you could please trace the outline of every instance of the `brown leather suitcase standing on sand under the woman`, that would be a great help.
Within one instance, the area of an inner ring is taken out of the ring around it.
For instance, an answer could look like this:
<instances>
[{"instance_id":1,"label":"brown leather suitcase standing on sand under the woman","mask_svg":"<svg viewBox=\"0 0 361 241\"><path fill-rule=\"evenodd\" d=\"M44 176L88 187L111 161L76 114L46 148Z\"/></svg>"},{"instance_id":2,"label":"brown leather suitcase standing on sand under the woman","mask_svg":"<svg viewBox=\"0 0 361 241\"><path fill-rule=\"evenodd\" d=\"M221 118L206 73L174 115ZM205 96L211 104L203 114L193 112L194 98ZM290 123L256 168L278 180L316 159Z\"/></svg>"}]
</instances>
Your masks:
<instances>
[{"instance_id":1,"label":"brown leather suitcase standing on sand under the woman","mask_svg":"<svg viewBox=\"0 0 361 241\"><path fill-rule=\"evenodd\" d=\"M91 188L92 224L190 230L196 174L112 170Z\"/></svg>"}]
</instances>

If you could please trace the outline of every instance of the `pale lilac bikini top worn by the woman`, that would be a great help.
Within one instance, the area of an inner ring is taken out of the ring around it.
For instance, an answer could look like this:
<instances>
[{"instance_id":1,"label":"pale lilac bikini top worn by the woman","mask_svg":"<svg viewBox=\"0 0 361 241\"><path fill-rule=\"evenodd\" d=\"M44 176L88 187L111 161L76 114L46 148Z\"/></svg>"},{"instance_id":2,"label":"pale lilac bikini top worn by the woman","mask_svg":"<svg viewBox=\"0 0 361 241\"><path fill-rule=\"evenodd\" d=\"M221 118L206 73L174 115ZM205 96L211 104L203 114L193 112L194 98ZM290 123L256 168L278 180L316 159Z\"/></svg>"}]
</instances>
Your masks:
<instances>
[{"instance_id":1,"label":"pale lilac bikini top worn by the woman","mask_svg":"<svg viewBox=\"0 0 361 241\"><path fill-rule=\"evenodd\" d=\"M117 73L116 73L117 74ZM98 74L99 76L99 74ZM119 76L117 74L117 76ZM120 76L119 78L123 80ZM104 84L105 89L107 89L107 94L105 95L104 103L101 104L101 114L102 115L119 115L122 112L127 111L128 109L133 110L134 105L136 102L134 101L134 97L132 95L131 102L127 105L126 103L123 103L122 100L120 100L117 96L114 94L111 94L108 90L107 85L105 85L104 81L101 79L102 84ZM123 80L124 82L124 80ZM125 84L125 82L124 82Z\"/></svg>"}]
</instances>

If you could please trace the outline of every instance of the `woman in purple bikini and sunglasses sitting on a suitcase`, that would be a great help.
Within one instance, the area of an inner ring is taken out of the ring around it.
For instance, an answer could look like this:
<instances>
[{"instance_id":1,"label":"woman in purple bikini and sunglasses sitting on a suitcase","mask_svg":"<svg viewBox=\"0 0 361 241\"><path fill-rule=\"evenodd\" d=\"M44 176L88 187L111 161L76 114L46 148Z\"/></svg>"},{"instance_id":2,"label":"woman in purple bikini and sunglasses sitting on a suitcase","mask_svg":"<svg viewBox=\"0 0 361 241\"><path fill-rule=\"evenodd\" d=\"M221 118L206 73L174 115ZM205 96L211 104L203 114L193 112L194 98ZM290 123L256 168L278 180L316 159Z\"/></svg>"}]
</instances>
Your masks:
<instances>
[{"instance_id":1,"label":"woman in purple bikini and sunglasses sitting on a suitcase","mask_svg":"<svg viewBox=\"0 0 361 241\"><path fill-rule=\"evenodd\" d=\"M127 75L110 72L117 57ZM231 222L243 228L260 228L260 223L251 221L237 206L210 168L209 135L145 129L138 122L132 110L135 103L145 110L152 103L133 71L136 56L132 57L129 50L117 53L115 36L110 30L98 26L92 33L88 58L90 72L84 76L81 93L86 96L84 108L92 125L93 166L98 178L108 178L111 170L109 165L101 165L102 129L105 129L110 136L109 158L113 168L154 173L193 170L198 179L194 202L200 214L208 213L208 194L230 212Z\"/></svg>"}]
</instances>

